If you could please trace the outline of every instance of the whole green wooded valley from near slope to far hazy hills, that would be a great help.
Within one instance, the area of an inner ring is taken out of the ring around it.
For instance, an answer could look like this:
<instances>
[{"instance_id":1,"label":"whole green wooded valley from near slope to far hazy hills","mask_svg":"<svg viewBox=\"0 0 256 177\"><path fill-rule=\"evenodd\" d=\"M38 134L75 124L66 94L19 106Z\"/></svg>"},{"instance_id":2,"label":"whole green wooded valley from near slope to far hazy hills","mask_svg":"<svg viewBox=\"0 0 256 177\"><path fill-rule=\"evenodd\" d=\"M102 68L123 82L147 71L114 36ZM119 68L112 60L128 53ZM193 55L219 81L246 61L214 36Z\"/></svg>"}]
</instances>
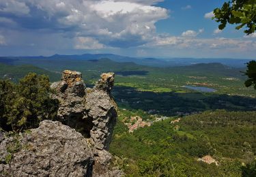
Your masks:
<instances>
[{"instance_id":1,"label":"whole green wooded valley from near slope to far hazy hills","mask_svg":"<svg viewBox=\"0 0 256 177\"><path fill-rule=\"evenodd\" d=\"M242 68L220 63L164 68L110 59L19 59L1 64L0 76L17 82L35 72L56 81L63 69L81 71L88 86L100 73L115 72L112 94L119 116L110 152L113 165L126 176L242 176L246 165L255 164L255 90L244 86ZM200 158L212 158L217 165Z\"/></svg>"}]
</instances>

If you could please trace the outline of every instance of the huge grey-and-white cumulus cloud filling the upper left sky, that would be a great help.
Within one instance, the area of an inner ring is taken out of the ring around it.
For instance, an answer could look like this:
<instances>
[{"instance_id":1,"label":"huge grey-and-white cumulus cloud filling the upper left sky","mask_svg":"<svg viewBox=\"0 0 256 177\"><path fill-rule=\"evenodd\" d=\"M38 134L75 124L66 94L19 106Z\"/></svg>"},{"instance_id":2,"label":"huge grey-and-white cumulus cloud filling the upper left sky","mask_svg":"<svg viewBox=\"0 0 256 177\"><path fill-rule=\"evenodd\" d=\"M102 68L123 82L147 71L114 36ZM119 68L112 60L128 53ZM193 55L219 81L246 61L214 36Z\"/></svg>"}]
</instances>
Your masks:
<instances>
[{"instance_id":1,"label":"huge grey-and-white cumulus cloud filling the upper left sky","mask_svg":"<svg viewBox=\"0 0 256 177\"><path fill-rule=\"evenodd\" d=\"M105 46L127 48L147 43L156 35L155 22L168 18L165 8L154 5L160 1L2 0L0 12L5 22L23 29L91 37ZM14 15L19 18L11 18Z\"/></svg>"}]
</instances>

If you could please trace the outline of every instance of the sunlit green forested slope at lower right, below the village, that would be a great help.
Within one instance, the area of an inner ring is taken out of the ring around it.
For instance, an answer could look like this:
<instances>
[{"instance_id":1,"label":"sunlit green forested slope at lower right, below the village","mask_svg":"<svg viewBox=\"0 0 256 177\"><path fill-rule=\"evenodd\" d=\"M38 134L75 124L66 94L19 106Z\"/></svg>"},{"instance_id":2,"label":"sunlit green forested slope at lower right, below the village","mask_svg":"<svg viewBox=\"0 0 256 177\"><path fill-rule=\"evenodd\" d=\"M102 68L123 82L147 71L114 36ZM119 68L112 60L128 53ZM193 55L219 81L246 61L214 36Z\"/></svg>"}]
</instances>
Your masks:
<instances>
[{"instance_id":1,"label":"sunlit green forested slope at lower right, below the village","mask_svg":"<svg viewBox=\"0 0 256 177\"><path fill-rule=\"evenodd\" d=\"M133 133L119 118L110 150L128 176L241 176L243 164L255 165L255 118L255 111L206 111ZM205 155L218 165L197 161Z\"/></svg>"}]
</instances>

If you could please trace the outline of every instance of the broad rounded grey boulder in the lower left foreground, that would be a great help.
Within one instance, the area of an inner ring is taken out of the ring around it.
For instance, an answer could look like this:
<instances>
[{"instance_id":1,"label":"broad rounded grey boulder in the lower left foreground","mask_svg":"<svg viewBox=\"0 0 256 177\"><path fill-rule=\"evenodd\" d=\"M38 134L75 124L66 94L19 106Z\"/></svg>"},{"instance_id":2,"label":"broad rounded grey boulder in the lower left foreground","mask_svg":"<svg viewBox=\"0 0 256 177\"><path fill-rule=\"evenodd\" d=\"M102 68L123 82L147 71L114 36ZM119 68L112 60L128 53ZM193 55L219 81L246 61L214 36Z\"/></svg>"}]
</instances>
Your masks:
<instances>
[{"instance_id":1,"label":"broad rounded grey boulder in the lower left foreground","mask_svg":"<svg viewBox=\"0 0 256 177\"><path fill-rule=\"evenodd\" d=\"M0 163L1 176L91 176L94 154L81 133L59 122L44 120L18 139L5 138L1 161L18 146L8 164ZM5 156L5 157L3 157Z\"/></svg>"}]
</instances>

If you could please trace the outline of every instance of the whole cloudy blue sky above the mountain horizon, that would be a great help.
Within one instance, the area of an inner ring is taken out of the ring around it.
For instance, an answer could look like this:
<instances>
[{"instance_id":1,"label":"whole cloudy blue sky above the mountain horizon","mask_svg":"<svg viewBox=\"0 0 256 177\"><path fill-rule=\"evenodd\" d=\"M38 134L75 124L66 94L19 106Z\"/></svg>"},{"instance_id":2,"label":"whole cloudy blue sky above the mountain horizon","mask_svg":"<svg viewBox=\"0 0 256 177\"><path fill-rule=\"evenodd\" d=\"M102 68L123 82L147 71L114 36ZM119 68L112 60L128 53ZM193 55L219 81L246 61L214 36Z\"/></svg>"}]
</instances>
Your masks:
<instances>
[{"instance_id":1,"label":"whole cloudy blue sky above the mountain horizon","mask_svg":"<svg viewBox=\"0 0 256 177\"><path fill-rule=\"evenodd\" d=\"M256 33L218 30L221 0L1 0L0 56L113 53L255 59Z\"/></svg>"}]
</instances>

